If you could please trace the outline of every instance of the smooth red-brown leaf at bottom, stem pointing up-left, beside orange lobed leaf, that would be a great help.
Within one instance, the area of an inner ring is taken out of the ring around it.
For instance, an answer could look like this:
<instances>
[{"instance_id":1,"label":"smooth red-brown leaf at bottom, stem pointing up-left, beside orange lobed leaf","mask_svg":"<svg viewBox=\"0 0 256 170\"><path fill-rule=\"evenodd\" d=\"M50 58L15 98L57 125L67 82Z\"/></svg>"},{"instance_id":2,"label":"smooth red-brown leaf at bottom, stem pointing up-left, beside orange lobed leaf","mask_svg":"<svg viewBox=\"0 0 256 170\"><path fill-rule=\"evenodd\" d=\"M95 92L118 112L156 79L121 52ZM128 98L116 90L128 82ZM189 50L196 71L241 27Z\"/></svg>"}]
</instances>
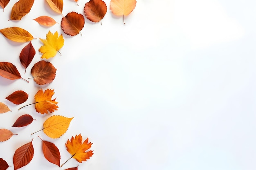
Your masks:
<instances>
[{"instance_id":1,"label":"smooth red-brown leaf at bottom, stem pointing up-left, beside orange lobed leaf","mask_svg":"<svg viewBox=\"0 0 256 170\"><path fill-rule=\"evenodd\" d=\"M54 145L52 142L44 141L43 139L41 140L43 141L43 154L45 156L45 159L51 163L56 164L57 166L60 166L61 155L57 146Z\"/></svg>"}]
</instances>

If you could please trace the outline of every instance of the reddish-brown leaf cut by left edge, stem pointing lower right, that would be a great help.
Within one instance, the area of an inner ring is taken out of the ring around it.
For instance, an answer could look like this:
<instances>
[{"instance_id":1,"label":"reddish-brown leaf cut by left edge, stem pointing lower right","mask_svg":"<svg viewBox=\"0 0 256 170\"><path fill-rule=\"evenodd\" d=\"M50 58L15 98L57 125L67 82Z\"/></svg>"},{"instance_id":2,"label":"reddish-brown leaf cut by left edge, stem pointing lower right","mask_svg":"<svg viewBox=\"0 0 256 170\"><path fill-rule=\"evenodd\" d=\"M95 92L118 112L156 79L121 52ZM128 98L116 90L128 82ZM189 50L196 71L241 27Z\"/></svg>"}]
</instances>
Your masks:
<instances>
[{"instance_id":1,"label":"reddish-brown leaf cut by left edge, stem pointing lower right","mask_svg":"<svg viewBox=\"0 0 256 170\"><path fill-rule=\"evenodd\" d=\"M23 79L22 77L20 77L20 73L17 70L16 66L11 64L10 62L0 62L0 75L4 78L11 79L11 80Z\"/></svg>"}]
</instances>

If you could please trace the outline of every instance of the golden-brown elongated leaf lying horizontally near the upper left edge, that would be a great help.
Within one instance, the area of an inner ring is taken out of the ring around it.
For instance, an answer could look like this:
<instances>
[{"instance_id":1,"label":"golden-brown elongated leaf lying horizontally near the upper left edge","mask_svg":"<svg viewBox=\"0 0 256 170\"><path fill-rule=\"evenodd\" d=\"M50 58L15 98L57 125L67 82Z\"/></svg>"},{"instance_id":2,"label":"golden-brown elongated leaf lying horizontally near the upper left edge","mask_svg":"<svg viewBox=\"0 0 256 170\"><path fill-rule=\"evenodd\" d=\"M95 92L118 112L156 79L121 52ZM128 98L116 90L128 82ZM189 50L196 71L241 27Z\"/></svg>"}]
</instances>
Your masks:
<instances>
[{"instance_id":1,"label":"golden-brown elongated leaf lying horizontally near the upper left edge","mask_svg":"<svg viewBox=\"0 0 256 170\"><path fill-rule=\"evenodd\" d=\"M28 31L16 26L0 29L0 33L14 42L29 42L34 39Z\"/></svg>"}]
</instances>

